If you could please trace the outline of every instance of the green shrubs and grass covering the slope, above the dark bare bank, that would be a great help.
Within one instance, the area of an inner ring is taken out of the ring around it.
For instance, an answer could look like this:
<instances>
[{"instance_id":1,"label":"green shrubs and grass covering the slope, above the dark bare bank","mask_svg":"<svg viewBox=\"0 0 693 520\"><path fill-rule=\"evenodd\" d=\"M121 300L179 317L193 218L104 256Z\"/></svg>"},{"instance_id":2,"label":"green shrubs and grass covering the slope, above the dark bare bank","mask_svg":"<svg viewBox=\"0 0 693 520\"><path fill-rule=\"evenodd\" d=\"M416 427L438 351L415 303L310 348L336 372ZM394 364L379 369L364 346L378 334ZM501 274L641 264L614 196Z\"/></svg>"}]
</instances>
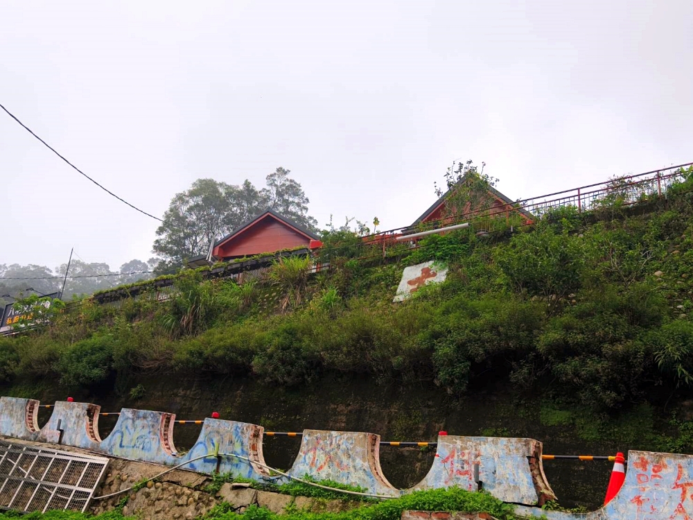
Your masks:
<instances>
[{"instance_id":1,"label":"green shrubs and grass covering the slope, above the dark bare bank","mask_svg":"<svg viewBox=\"0 0 693 520\"><path fill-rule=\"evenodd\" d=\"M693 385L690 175L667 198L646 197L644 215L622 204L616 183L613 200L589 213L563 207L512 234L472 227L385 255L332 229L320 253L331 269L313 275L308 257L279 259L240 284L188 270L164 302L151 293L84 302L42 330L1 338L0 380L79 389L209 372L291 386L342 372L435 381L460 396L493 374L518 395L567 407L666 398ZM427 260L446 263L448 279L393 304L402 268Z\"/></svg>"}]
</instances>

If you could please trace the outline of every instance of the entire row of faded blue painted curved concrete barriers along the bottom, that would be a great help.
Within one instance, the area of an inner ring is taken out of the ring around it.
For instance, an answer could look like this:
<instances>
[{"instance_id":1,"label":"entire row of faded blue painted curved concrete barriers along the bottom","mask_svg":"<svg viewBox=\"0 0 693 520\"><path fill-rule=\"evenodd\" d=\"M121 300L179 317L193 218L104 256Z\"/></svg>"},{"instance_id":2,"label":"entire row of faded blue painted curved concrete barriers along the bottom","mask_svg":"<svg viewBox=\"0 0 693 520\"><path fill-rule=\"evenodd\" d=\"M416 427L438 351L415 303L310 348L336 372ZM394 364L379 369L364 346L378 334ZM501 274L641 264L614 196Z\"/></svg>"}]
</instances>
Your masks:
<instances>
[{"instance_id":1,"label":"entire row of faded blue painted curved concrete barriers along the bottom","mask_svg":"<svg viewBox=\"0 0 693 520\"><path fill-rule=\"evenodd\" d=\"M263 428L255 424L205 419L198 441L185 456L177 456L173 444L175 415L124 408L112 433L98 437L96 405L60 401L43 428L38 427L34 399L0 398L0 435L41 440L98 451L105 455L184 464L186 469L211 474L216 471L255 480L269 480L263 468ZM373 433L304 431L301 449L288 474L317 480L330 479L357 485L374 494L398 496L401 491L387 482L380 469L380 437ZM237 453L249 458L210 456ZM457 485L485 489L491 495L518 505L518 514L549 520L693 519L693 456L630 451L626 479L615 498L597 511L576 514L541 510L554 499L541 466L541 443L532 439L495 437L438 437L437 453L428 475L413 489Z\"/></svg>"}]
</instances>

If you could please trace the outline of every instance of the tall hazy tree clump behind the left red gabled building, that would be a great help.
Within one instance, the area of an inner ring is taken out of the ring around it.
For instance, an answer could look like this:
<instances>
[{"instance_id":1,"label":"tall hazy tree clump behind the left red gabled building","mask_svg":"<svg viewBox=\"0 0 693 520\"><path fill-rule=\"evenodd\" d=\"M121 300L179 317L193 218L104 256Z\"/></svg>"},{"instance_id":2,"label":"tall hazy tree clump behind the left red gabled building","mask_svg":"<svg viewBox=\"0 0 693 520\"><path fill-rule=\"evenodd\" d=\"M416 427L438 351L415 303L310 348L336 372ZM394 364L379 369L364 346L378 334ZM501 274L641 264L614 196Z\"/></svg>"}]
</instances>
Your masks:
<instances>
[{"instance_id":1,"label":"tall hazy tree clump behind the left red gabled building","mask_svg":"<svg viewBox=\"0 0 693 520\"><path fill-rule=\"evenodd\" d=\"M229 234L266 209L316 229L308 216L308 198L290 171L277 168L267 175L267 186L258 190L245 180L232 186L213 179L198 179L190 189L177 193L157 229L153 251L161 257L157 274L175 271L192 257L206 254L212 241Z\"/></svg>"}]
</instances>

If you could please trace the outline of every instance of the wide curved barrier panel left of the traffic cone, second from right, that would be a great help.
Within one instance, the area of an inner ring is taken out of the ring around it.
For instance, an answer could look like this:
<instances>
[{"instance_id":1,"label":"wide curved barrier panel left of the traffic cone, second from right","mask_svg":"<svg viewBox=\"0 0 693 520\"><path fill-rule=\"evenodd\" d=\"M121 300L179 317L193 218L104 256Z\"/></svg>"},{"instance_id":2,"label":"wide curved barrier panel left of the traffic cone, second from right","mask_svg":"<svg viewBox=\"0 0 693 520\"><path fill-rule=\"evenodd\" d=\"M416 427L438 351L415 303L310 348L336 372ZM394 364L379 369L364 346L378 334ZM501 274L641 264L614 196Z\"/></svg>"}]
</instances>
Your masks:
<instances>
[{"instance_id":1,"label":"wide curved barrier panel left of the traffic cone, second from right","mask_svg":"<svg viewBox=\"0 0 693 520\"><path fill-rule=\"evenodd\" d=\"M440 435L428 475L411 490L451 486L485 489L519 504L556 499L543 474L541 442L534 439Z\"/></svg>"}]
</instances>

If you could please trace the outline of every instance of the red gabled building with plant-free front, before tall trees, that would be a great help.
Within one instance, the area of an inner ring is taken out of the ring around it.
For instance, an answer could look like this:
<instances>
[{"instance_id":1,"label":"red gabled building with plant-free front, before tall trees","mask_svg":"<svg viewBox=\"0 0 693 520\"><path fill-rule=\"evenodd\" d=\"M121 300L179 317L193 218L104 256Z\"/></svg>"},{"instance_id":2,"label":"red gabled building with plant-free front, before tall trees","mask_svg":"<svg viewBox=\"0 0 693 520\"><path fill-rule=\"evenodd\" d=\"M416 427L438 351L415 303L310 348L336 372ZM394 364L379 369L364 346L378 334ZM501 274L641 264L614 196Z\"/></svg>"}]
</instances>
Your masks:
<instances>
[{"instance_id":1,"label":"red gabled building with plant-free front, before tall trees","mask_svg":"<svg viewBox=\"0 0 693 520\"><path fill-rule=\"evenodd\" d=\"M301 246L313 250L321 245L317 234L290 218L267 209L263 214L214 242L207 254L189 259L187 265L191 268L209 266L220 260L229 261L262 253L271 254Z\"/></svg>"}]
</instances>

